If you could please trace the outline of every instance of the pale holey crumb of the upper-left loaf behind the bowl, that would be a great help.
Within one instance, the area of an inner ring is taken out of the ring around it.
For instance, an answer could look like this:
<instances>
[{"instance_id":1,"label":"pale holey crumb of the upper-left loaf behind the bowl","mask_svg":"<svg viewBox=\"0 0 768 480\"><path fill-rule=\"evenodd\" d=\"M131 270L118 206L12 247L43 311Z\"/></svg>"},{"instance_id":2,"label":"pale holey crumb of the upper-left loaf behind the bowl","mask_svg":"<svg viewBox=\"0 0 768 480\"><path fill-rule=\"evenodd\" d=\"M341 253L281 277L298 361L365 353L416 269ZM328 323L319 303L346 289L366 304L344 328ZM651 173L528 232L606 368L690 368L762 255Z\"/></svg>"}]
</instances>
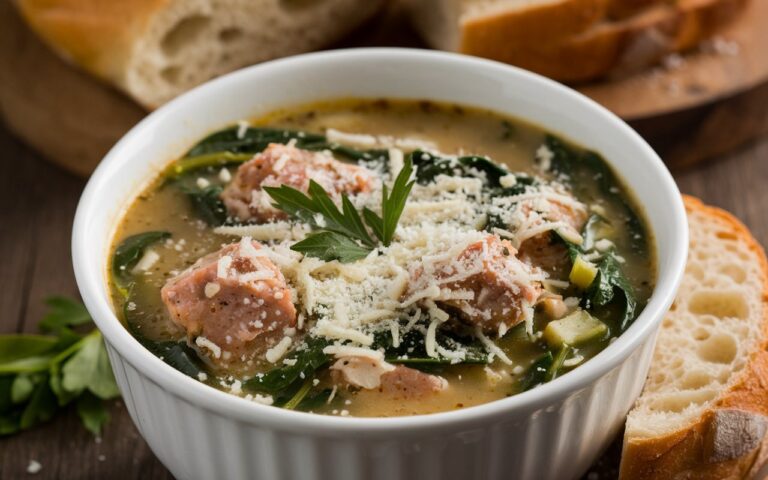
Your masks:
<instances>
[{"instance_id":1,"label":"pale holey crumb of the upper-left loaf behind the bowl","mask_svg":"<svg viewBox=\"0 0 768 480\"><path fill-rule=\"evenodd\" d=\"M135 37L124 88L145 105L160 105L237 68L329 45L381 4L381 0L172 1Z\"/></svg>"}]
</instances>

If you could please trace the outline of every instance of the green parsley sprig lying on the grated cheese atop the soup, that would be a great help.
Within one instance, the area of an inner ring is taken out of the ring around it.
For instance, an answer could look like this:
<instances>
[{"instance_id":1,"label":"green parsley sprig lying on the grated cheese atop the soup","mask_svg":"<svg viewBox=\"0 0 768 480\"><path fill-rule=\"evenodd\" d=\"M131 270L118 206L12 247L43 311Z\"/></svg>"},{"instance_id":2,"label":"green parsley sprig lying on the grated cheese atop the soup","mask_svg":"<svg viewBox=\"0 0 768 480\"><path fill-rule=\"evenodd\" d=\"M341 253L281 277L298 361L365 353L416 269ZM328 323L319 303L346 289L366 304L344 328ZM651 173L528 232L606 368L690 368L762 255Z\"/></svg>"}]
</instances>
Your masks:
<instances>
[{"instance_id":1,"label":"green parsley sprig lying on the grated cheese atop the soup","mask_svg":"<svg viewBox=\"0 0 768 480\"><path fill-rule=\"evenodd\" d=\"M272 197L275 208L318 230L293 244L292 250L325 261L346 263L365 258L379 242L384 246L392 243L405 202L415 183L411 180L412 174L413 162L408 157L392 184L392 190L386 185L382 189L381 216L366 207L361 217L345 194L341 195L339 210L328 192L314 180L310 180L307 194L288 185L264 187L264 191Z\"/></svg>"}]
</instances>

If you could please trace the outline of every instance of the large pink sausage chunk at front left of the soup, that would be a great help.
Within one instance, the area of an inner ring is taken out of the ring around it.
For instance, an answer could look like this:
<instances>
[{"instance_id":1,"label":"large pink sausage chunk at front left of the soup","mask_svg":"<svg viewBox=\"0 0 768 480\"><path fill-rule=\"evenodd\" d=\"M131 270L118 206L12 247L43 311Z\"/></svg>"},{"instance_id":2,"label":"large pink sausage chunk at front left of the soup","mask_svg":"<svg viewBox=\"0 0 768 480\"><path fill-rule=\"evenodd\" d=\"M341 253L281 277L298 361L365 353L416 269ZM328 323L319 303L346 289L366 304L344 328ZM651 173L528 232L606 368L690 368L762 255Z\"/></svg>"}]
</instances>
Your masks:
<instances>
[{"instance_id":1,"label":"large pink sausage chunk at front left of the soup","mask_svg":"<svg viewBox=\"0 0 768 480\"><path fill-rule=\"evenodd\" d=\"M214 362L263 353L296 325L280 270L250 238L199 259L161 290L171 319Z\"/></svg>"}]
</instances>

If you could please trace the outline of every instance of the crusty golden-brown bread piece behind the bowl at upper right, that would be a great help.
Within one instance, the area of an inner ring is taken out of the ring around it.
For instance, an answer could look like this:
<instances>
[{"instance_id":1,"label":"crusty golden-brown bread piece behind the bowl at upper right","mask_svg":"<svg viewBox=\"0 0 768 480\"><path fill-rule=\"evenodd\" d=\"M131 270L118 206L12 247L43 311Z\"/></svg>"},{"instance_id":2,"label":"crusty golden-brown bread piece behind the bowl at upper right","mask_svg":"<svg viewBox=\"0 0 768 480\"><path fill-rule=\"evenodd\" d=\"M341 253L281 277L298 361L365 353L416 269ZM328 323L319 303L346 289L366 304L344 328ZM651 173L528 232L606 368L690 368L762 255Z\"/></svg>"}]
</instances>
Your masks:
<instances>
[{"instance_id":1,"label":"crusty golden-brown bread piece behind the bowl at upper right","mask_svg":"<svg viewBox=\"0 0 768 480\"><path fill-rule=\"evenodd\" d=\"M749 0L407 0L432 46L579 82L687 50Z\"/></svg>"}]
</instances>

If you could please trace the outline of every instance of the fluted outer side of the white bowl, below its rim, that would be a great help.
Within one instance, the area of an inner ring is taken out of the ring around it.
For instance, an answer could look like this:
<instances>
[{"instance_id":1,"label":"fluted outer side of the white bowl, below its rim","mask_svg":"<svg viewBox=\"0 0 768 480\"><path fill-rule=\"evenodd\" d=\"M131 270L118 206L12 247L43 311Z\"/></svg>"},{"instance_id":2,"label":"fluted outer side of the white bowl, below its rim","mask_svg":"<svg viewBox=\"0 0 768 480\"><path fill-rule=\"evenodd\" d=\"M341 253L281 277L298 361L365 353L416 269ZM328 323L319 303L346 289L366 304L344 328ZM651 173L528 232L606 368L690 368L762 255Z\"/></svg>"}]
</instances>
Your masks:
<instances>
[{"instance_id":1,"label":"fluted outer side of the white bowl, below its rim","mask_svg":"<svg viewBox=\"0 0 768 480\"><path fill-rule=\"evenodd\" d=\"M233 420L173 394L108 349L134 423L179 479L567 480L582 475L618 432L645 380L653 337L563 401L460 431L391 439Z\"/></svg>"}]
</instances>

